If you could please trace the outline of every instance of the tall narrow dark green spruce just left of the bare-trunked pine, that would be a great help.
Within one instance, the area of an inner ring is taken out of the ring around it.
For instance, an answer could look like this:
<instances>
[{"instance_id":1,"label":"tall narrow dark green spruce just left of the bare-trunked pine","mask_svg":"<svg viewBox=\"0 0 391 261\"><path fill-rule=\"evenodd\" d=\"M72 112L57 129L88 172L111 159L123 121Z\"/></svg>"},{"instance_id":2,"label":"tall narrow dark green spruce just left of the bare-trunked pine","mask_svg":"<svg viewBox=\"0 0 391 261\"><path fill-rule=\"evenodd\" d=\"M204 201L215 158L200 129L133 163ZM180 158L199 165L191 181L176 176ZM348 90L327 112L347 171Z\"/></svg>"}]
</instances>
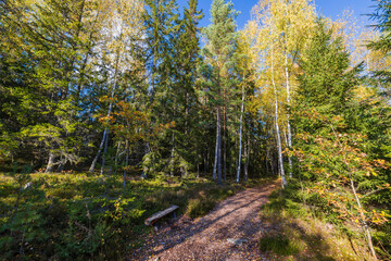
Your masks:
<instances>
[{"instance_id":1,"label":"tall narrow dark green spruce just left of the bare-trunked pine","mask_svg":"<svg viewBox=\"0 0 391 261\"><path fill-rule=\"evenodd\" d=\"M198 11L198 0L189 0L188 7L184 9L184 16L178 20L178 30L173 38L173 88L169 96L172 97L171 112L172 122L175 127L171 128L172 133L172 151L171 151L171 173L175 169L174 156L179 157L179 165L186 174L187 170L198 164L197 144L194 126L198 113L198 102L195 94L197 66L199 63L199 21L203 17L202 11Z\"/></svg>"}]
</instances>

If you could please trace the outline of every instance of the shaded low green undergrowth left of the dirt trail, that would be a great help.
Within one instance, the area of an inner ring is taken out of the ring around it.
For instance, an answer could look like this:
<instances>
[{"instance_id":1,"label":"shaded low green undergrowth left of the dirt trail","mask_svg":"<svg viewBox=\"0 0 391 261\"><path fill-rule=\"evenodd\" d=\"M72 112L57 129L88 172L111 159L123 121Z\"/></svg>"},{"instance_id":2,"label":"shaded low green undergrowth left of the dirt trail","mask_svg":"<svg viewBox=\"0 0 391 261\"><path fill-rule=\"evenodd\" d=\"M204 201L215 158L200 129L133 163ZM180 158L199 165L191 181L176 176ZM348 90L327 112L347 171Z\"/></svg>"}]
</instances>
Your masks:
<instances>
[{"instance_id":1,"label":"shaded low green undergrowth left of the dirt trail","mask_svg":"<svg viewBox=\"0 0 391 261\"><path fill-rule=\"evenodd\" d=\"M28 187L24 187L29 184ZM198 217L247 186L205 178L90 173L0 174L0 260L121 260L142 246L143 220L171 204Z\"/></svg>"}]
</instances>

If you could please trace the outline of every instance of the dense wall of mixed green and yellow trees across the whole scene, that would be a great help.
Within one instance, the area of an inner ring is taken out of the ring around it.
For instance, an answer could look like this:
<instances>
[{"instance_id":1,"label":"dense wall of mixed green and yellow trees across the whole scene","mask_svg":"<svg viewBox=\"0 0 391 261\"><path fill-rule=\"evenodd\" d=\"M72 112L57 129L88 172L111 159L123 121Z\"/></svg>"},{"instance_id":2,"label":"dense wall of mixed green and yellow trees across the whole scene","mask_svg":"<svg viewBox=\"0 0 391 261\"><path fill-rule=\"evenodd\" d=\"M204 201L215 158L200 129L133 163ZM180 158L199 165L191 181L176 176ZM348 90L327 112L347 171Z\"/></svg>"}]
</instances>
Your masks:
<instances>
[{"instance_id":1,"label":"dense wall of mixed green and yellow trees across the whole scene","mask_svg":"<svg viewBox=\"0 0 391 261\"><path fill-rule=\"evenodd\" d=\"M376 256L391 244L371 238L390 233L391 197L391 8L377 7L354 49L352 25L308 0L260 1L242 30L225 0L202 29L198 0L1 1L2 169L100 169L124 186L279 175L356 221Z\"/></svg>"}]
</instances>

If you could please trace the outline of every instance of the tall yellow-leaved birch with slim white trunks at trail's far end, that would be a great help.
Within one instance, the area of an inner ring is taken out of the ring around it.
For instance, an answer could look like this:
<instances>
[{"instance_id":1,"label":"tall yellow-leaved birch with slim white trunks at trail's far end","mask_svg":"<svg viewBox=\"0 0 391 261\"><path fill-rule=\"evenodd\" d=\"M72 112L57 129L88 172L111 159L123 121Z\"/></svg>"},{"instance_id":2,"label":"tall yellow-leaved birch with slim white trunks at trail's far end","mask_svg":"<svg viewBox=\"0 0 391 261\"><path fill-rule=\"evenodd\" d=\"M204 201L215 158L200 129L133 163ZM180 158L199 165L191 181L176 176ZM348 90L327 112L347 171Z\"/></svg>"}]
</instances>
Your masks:
<instances>
[{"instance_id":1,"label":"tall yellow-leaved birch with slim white trunks at trail's far end","mask_svg":"<svg viewBox=\"0 0 391 261\"><path fill-rule=\"evenodd\" d=\"M260 77L264 78L260 83L273 89L278 165L282 183L286 183L282 151L289 153L289 176L292 176L289 151L292 148L290 105L292 86L295 86L293 69L300 52L306 48L314 21L315 11L310 1L268 0L261 1L254 8L254 21L248 25L252 32L253 52L258 53L256 63ZM267 88L263 88L267 91ZM280 132L287 133L287 150L282 149Z\"/></svg>"}]
</instances>

